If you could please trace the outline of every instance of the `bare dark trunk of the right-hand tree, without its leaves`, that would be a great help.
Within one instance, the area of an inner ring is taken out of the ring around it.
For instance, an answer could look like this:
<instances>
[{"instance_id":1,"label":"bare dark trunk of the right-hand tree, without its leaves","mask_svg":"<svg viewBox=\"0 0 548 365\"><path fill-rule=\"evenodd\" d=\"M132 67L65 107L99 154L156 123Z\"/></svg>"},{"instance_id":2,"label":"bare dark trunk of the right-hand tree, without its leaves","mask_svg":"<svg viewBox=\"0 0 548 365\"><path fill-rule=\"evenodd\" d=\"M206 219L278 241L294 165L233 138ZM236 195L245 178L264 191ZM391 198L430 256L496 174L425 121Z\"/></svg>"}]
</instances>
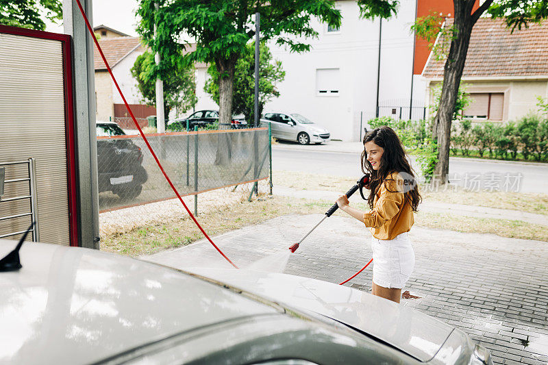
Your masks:
<instances>
[{"instance_id":1,"label":"bare dark trunk of the right-hand tree, without its leaves","mask_svg":"<svg viewBox=\"0 0 548 365\"><path fill-rule=\"evenodd\" d=\"M451 142L451 122L458 97L460 77L464 70L466 53L470 43L470 35L475 19L469 8L462 1L455 3L455 36L451 40L451 48L445 62L443 86L440 96L438 113L432 125L432 138L438 143L438 163L434 168L434 179L440 184L447 183L449 173L449 147Z\"/></svg>"}]
</instances>

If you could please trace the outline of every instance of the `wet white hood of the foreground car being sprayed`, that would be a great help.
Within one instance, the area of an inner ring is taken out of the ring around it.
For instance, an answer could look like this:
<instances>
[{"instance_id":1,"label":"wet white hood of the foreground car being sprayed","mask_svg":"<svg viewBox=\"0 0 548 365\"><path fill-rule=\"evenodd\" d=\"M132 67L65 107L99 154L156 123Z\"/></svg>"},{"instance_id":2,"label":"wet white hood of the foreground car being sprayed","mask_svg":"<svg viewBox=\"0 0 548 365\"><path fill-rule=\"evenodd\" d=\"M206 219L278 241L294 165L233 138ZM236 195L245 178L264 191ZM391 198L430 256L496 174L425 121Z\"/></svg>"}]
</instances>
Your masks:
<instances>
[{"instance_id":1,"label":"wet white hood of the foreground car being sprayed","mask_svg":"<svg viewBox=\"0 0 548 365\"><path fill-rule=\"evenodd\" d=\"M418 310L326 281L250 270L187 270L295 309L338 320L422 362L432 360L453 331L453 327Z\"/></svg>"}]
</instances>

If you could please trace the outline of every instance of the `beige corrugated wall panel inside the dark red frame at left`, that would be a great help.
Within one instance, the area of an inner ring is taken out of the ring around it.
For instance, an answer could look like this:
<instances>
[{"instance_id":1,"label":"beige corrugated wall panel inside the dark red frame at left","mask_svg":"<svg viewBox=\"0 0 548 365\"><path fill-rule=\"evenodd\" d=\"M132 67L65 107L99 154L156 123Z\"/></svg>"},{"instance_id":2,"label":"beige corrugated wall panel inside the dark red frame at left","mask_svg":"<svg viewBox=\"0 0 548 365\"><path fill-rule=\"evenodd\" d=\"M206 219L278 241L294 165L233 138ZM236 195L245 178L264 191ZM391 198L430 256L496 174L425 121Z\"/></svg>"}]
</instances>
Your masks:
<instances>
[{"instance_id":1,"label":"beige corrugated wall panel inside the dark red frame at left","mask_svg":"<svg viewBox=\"0 0 548 365\"><path fill-rule=\"evenodd\" d=\"M36 159L40 241L68 245L63 90L61 42L0 34L0 162ZM8 166L5 175L14 179L27 172ZM28 194L28 185L5 186L4 197L15 194ZM0 201L0 216L28 211L28 200ZM29 221L0 221L0 234L24 230Z\"/></svg>"}]
</instances>

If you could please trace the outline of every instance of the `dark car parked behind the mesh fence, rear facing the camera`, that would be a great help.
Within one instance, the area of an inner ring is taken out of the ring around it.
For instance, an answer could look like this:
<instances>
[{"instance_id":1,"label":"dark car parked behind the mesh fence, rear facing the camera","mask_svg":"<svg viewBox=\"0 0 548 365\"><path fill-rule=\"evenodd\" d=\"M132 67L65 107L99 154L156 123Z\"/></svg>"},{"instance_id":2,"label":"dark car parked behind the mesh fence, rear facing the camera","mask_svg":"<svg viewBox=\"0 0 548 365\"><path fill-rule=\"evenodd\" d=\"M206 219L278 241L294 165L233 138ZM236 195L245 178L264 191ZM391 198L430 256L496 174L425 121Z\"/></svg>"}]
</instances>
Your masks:
<instances>
[{"instance_id":1,"label":"dark car parked behind the mesh fence, rear facing the camera","mask_svg":"<svg viewBox=\"0 0 548 365\"><path fill-rule=\"evenodd\" d=\"M97 122L97 136L125 136L125 133L116 123ZM148 179L141 164L142 151L129 138L98 139L99 192L112 191L121 199L138 197Z\"/></svg>"}]
</instances>

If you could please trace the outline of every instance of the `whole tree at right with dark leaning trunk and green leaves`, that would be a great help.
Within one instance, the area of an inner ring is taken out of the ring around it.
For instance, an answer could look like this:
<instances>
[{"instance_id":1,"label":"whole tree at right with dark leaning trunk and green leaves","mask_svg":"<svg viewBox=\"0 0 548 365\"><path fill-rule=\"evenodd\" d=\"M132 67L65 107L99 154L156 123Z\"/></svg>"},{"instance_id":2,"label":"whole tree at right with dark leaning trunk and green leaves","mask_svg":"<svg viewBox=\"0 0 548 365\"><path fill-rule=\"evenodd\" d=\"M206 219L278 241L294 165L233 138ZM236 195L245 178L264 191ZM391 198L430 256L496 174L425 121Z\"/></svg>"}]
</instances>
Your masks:
<instances>
[{"instance_id":1,"label":"whole tree at right with dark leaning trunk and green leaves","mask_svg":"<svg viewBox=\"0 0 548 365\"><path fill-rule=\"evenodd\" d=\"M449 173L452 116L457 103L458 88L472 28L477 19L486 12L495 18L505 17L506 23L512 27L513 32L516 27L518 29L522 26L527 27L527 23L540 22L548 16L548 0L485 0L474 10L475 3L476 0L453 0L454 19L450 25L449 36L445 40L440 40L440 42L449 42L440 103L432 125L432 137L438 145L438 162L434 168L434 175L439 177L441 184L447 182ZM440 32L439 22L432 21L431 17L418 19L414 29L418 36L426 38L432 38L432 34Z\"/></svg>"}]
</instances>

